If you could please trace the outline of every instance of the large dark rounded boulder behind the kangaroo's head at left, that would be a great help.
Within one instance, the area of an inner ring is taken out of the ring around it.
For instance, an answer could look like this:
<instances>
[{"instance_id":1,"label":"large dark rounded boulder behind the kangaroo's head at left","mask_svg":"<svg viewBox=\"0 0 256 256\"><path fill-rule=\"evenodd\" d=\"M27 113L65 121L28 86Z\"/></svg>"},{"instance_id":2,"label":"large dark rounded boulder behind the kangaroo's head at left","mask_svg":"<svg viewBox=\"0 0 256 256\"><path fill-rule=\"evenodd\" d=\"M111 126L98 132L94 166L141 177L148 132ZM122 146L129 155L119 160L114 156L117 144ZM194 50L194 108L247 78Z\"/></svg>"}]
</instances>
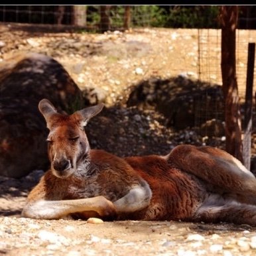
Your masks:
<instances>
[{"instance_id":1,"label":"large dark rounded boulder behind the kangaroo's head at left","mask_svg":"<svg viewBox=\"0 0 256 256\"><path fill-rule=\"evenodd\" d=\"M1 64L0 175L19 178L48 166L42 98L67 113L83 107L80 89L53 58L31 53Z\"/></svg>"}]
</instances>

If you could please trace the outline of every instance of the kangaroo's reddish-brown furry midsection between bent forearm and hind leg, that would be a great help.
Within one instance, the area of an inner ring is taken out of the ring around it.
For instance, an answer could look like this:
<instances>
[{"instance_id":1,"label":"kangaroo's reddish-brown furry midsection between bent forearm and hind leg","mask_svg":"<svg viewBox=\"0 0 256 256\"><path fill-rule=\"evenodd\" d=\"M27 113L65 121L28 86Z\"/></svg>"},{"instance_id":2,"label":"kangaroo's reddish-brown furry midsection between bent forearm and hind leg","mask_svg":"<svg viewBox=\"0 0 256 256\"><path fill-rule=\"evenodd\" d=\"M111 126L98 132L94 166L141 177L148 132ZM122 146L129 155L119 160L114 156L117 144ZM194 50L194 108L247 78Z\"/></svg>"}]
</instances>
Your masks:
<instances>
[{"instance_id":1,"label":"kangaroo's reddish-brown furry midsection between bent forearm and hind leg","mask_svg":"<svg viewBox=\"0 0 256 256\"><path fill-rule=\"evenodd\" d=\"M196 177L171 167L157 155L125 159L153 190L151 204L141 214L129 217L143 220L192 220L202 203L203 189ZM201 199L200 199L201 198Z\"/></svg>"}]
</instances>

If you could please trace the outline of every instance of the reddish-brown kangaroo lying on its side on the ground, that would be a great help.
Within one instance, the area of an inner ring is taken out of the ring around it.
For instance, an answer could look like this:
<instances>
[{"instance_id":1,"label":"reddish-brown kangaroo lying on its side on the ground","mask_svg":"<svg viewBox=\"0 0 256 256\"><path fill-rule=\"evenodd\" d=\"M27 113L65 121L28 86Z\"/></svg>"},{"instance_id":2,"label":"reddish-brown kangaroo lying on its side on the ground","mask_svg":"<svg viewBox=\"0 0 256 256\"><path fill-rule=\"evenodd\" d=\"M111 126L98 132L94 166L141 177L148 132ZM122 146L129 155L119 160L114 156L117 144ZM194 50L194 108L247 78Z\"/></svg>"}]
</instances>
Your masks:
<instances>
[{"instance_id":1,"label":"reddish-brown kangaroo lying on its side on the ground","mask_svg":"<svg viewBox=\"0 0 256 256\"><path fill-rule=\"evenodd\" d=\"M48 99L38 108L49 129L51 165L22 216L256 225L256 178L225 151L178 145L165 156L120 158L90 149L84 131L102 103L72 115Z\"/></svg>"}]
</instances>

